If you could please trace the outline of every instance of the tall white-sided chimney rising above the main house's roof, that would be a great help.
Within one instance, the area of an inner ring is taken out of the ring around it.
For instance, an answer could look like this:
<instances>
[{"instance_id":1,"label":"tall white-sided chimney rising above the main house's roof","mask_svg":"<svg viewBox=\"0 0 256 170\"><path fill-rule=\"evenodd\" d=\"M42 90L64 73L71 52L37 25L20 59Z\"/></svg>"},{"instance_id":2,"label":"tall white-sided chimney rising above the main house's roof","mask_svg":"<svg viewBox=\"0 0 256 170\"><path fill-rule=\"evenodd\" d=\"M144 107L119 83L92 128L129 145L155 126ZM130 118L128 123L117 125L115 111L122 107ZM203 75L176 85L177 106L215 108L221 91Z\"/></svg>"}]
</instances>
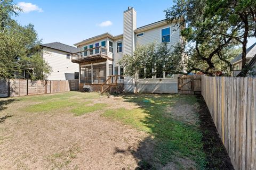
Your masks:
<instances>
[{"instance_id":1,"label":"tall white-sided chimney rising above the main house's roof","mask_svg":"<svg viewBox=\"0 0 256 170\"><path fill-rule=\"evenodd\" d=\"M134 30L137 27L136 11L131 8L124 12L124 54L134 51Z\"/></svg>"}]
</instances>

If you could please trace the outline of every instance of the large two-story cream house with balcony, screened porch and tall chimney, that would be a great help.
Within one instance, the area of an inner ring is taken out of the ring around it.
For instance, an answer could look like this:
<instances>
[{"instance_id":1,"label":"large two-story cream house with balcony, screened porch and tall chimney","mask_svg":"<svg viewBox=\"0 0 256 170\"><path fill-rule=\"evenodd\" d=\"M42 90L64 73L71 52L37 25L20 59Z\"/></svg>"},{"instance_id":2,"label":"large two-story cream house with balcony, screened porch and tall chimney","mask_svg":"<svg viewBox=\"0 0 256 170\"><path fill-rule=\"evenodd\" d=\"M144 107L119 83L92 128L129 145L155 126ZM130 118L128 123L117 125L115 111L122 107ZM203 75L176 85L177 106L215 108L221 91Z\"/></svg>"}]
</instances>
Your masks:
<instances>
[{"instance_id":1,"label":"large two-story cream house with balcony, screened porch and tall chimney","mask_svg":"<svg viewBox=\"0 0 256 170\"><path fill-rule=\"evenodd\" d=\"M84 84L105 82L109 75L123 75L124 70L118 65L118 60L125 54L132 55L138 44L166 42L171 47L181 40L179 24L162 20L137 28L137 12L132 7L124 11L123 16L122 35L113 36L107 32L75 44L80 52L73 54L72 62L79 63L81 90ZM124 80L119 78L119 81L124 81L126 92L134 92L135 86L137 92L178 92L177 75L165 72L150 78L139 75L136 85L127 77Z\"/></svg>"}]
</instances>

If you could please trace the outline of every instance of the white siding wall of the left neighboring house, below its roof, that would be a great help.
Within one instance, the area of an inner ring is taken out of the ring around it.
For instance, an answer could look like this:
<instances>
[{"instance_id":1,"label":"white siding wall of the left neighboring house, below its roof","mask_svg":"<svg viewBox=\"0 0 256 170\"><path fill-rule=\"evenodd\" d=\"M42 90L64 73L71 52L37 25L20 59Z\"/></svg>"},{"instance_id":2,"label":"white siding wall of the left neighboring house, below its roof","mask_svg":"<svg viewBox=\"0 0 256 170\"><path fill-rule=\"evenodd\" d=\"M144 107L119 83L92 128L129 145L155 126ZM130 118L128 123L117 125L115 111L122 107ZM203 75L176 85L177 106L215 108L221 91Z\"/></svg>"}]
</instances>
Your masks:
<instances>
[{"instance_id":1,"label":"white siding wall of the left neighboring house, below its roof","mask_svg":"<svg viewBox=\"0 0 256 170\"><path fill-rule=\"evenodd\" d=\"M75 72L78 72L79 65L67 59L66 52L61 52L57 49L43 48L43 58L52 67L52 73L49 80L74 80Z\"/></svg>"}]
</instances>

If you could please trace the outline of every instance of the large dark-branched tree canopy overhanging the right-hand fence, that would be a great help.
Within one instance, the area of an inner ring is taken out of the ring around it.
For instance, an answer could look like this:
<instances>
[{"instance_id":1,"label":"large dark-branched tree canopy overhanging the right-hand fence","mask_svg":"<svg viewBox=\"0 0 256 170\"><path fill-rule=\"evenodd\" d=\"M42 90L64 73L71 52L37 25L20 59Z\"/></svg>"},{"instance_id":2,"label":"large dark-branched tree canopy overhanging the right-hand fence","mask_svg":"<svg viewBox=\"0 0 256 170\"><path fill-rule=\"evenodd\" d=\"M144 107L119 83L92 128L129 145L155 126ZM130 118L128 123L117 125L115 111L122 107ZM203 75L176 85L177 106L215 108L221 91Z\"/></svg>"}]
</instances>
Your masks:
<instances>
[{"instance_id":1,"label":"large dark-branched tree canopy overhanging the right-hand fence","mask_svg":"<svg viewBox=\"0 0 256 170\"><path fill-rule=\"evenodd\" d=\"M247 38L255 36L255 1L178 0L165 10L168 22L181 21L186 71L230 73L230 50L242 45L246 67ZM186 26L186 27L185 27ZM226 69L225 69L226 68Z\"/></svg>"}]
</instances>

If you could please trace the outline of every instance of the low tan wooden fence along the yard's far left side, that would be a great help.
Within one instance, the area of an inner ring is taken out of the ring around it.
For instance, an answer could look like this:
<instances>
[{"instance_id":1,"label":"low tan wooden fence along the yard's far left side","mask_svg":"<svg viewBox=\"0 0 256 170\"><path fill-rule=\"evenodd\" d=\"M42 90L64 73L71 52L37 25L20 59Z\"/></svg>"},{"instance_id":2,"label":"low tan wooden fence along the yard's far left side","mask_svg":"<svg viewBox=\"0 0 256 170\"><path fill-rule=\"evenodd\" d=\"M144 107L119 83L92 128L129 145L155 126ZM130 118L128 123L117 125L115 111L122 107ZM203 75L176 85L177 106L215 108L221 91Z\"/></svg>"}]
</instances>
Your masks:
<instances>
[{"instance_id":1,"label":"low tan wooden fence along the yard's far left side","mask_svg":"<svg viewBox=\"0 0 256 170\"><path fill-rule=\"evenodd\" d=\"M78 91L78 80L23 80L0 81L0 97L53 94L56 92Z\"/></svg>"}]
</instances>

